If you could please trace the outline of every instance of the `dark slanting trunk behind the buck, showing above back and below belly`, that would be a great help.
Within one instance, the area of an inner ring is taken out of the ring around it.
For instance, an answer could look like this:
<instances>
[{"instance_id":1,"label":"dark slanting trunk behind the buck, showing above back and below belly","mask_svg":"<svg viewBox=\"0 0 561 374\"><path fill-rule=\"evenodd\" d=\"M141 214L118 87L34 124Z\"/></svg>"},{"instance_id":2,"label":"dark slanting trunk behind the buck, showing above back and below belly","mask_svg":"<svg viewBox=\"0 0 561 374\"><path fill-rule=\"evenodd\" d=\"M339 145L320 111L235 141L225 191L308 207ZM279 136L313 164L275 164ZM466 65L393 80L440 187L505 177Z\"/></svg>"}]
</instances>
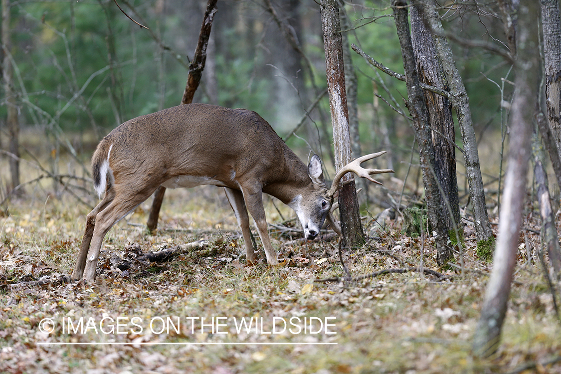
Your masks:
<instances>
[{"instance_id":1,"label":"dark slanting trunk behind the buck, showing above back and below belly","mask_svg":"<svg viewBox=\"0 0 561 374\"><path fill-rule=\"evenodd\" d=\"M191 61L191 64L189 65L189 75L187 76L187 84L185 85L185 91L183 91L181 104L189 104L193 101L193 96L195 95L197 87L199 87L201 76L203 76L203 70L206 62L206 47L210 37L210 28L212 26L212 21L214 20L214 14L217 11L217 1L218 0L208 0L208 3L206 3L205 16L203 17L203 24L201 25L201 31L199 33L199 42L197 43L197 48L195 49L193 61ZM154 200L152 201L148 222L146 223L150 232L154 232L154 230L158 227L158 216L160 214L160 209L162 208L164 194L164 186L158 187L156 192L154 192Z\"/></svg>"}]
</instances>

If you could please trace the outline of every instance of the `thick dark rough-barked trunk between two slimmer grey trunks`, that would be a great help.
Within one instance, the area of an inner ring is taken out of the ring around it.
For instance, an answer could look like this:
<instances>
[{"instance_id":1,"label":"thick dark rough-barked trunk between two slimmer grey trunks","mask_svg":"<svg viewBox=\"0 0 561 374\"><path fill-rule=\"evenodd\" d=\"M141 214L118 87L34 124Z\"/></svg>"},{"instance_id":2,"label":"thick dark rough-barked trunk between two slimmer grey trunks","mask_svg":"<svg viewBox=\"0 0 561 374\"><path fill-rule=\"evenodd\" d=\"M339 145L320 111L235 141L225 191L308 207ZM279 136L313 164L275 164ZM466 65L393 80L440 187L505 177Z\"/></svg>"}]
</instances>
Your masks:
<instances>
[{"instance_id":1,"label":"thick dark rough-barked trunk between two slimmer grey trunks","mask_svg":"<svg viewBox=\"0 0 561 374\"><path fill-rule=\"evenodd\" d=\"M443 91L448 90L448 82L444 75L442 63L436 56L433 35L426 29L419 14L418 6L411 8L411 38L419 80L429 86ZM426 107L429 110L431 140L434 150L434 173L436 181L442 188L441 198L448 236L452 242L459 242L463 238L463 228L459 215L458 181L456 177L456 148L454 119L452 105L445 96L425 90ZM456 231L458 236L456 237Z\"/></svg>"}]
</instances>

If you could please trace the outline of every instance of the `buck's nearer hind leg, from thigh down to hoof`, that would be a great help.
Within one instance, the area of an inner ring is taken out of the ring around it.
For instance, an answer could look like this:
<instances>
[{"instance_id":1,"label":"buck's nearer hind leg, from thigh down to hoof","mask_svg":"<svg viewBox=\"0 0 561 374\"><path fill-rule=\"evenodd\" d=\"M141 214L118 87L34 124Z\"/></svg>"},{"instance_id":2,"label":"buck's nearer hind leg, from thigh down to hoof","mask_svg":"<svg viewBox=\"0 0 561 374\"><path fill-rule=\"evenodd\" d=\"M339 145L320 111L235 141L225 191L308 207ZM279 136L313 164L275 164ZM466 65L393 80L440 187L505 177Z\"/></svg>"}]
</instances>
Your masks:
<instances>
[{"instance_id":1,"label":"buck's nearer hind leg, from thigh down to hoof","mask_svg":"<svg viewBox=\"0 0 561 374\"><path fill-rule=\"evenodd\" d=\"M155 188L150 188L150 190L142 193L137 192L137 190L121 193L117 191L112 201L95 215L95 225L89 239L91 242L90 250L84 255L85 269L83 275L88 283L93 283L95 280L95 269L98 266L99 252L103 244L103 238L109 229L119 220L123 219L125 215L134 210L142 201L150 197L154 191ZM86 234L87 230L88 227L86 226ZM84 245L84 243L82 243L82 245ZM80 255L82 255L81 251L82 250L80 250Z\"/></svg>"}]
</instances>

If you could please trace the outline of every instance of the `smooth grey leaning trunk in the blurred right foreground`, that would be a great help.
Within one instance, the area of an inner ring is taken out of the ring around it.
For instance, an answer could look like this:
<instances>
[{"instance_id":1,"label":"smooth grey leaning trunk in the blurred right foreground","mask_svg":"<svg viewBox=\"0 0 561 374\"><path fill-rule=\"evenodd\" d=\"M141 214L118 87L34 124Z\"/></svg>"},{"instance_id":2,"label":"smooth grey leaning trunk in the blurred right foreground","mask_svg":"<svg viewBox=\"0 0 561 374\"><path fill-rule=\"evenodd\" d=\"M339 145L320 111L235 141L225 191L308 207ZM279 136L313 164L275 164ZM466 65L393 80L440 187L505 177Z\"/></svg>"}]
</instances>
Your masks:
<instances>
[{"instance_id":1,"label":"smooth grey leaning trunk in the blurred right foreground","mask_svg":"<svg viewBox=\"0 0 561 374\"><path fill-rule=\"evenodd\" d=\"M521 0L518 10L516 91L509 114L508 166L505 173L503 207L499 235L493 257L493 271L487 285L481 317L473 339L473 353L488 357L496 352L507 312L512 274L518 252L522 210L526 196L526 176L531 153L540 53L538 47L538 4Z\"/></svg>"}]
</instances>

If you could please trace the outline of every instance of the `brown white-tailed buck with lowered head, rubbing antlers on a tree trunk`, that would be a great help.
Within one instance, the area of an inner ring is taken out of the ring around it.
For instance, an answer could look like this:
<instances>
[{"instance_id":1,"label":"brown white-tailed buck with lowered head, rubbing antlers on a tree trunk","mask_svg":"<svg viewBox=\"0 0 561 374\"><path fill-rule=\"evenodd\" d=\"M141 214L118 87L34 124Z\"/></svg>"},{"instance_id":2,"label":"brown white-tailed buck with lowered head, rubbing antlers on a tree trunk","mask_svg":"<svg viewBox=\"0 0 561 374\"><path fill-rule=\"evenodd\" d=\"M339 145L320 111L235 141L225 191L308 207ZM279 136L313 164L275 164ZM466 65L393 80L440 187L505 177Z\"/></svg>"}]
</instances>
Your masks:
<instances>
[{"instance_id":1,"label":"brown white-tailed buck with lowered head, rubbing antlers on a tree trunk","mask_svg":"<svg viewBox=\"0 0 561 374\"><path fill-rule=\"evenodd\" d=\"M319 157L312 156L306 167L269 123L250 110L185 104L131 119L99 142L91 160L95 191L105 196L86 218L71 279L84 276L88 282L95 280L105 234L160 185L224 187L242 229L247 261L256 261L249 210L268 264L277 265L261 193L277 197L295 210L304 236L314 239L326 217L338 231L330 208L343 174L355 172L378 183L371 174L393 171L360 167L361 162L383 153L362 156L348 164L328 190Z\"/></svg>"}]
</instances>

